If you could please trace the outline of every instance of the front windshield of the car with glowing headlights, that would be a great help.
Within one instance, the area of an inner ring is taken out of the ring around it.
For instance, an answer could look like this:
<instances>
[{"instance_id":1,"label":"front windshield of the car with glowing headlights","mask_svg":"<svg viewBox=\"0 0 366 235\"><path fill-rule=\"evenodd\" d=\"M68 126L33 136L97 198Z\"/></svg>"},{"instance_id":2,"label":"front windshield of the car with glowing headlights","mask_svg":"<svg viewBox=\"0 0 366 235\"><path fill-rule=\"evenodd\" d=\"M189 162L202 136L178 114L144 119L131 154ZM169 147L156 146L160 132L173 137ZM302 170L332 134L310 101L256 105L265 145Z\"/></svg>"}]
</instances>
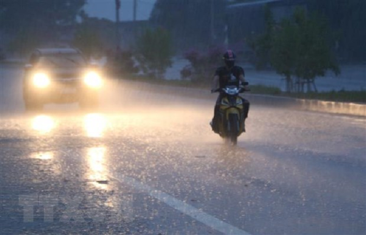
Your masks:
<instances>
[{"instance_id":1,"label":"front windshield of the car with glowing headlights","mask_svg":"<svg viewBox=\"0 0 366 235\"><path fill-rule=\"evenodd\" d=\"M80 67L85 66L86 61L81 55L64 54L42 56L37 67Z\"/></svg>"}]
</instances>

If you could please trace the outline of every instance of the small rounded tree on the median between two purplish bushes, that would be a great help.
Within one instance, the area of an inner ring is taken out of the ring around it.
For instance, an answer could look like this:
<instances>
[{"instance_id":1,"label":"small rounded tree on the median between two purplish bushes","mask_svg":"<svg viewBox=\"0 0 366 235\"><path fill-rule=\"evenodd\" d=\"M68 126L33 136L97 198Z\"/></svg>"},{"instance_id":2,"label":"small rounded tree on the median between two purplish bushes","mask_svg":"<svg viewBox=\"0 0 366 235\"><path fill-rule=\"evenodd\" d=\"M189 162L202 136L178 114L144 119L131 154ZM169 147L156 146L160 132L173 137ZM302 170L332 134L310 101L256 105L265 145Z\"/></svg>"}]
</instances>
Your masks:
<instances>
[{"instance_id":1,"label":"small rounded tree on the median between two purplish bushes","mask_svg":"<svg viewBox=\"0 0 366 235\"><path fill-rule=\"evenodd\" d=\"M170 34L163 28L146 29L137 41L138 60L144 72L163 77L172 64L173 46Z\"/></svg>"}]
</instances>

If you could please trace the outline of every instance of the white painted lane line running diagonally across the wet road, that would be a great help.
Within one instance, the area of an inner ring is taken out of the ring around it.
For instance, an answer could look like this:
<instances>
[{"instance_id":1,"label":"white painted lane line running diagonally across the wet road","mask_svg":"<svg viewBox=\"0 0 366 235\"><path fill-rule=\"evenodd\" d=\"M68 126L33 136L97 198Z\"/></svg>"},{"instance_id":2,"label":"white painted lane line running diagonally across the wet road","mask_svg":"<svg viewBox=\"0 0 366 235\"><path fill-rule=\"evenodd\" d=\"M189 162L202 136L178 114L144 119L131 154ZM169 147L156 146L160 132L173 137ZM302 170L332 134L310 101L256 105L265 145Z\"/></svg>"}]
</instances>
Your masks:
<instances>
[{"instance_id":1,"label":"white painted lane line running diagonally across the wet road","mask_svg":"<svg viewBox=\"0 0 366 235\"><path fill-rule=\"evenodd\" d=\"M110 176L111 178L114 178L118 180L121 183L126 183L129 186L134 187L136 190L146 193L149 196L152 196L165 204L173 207L174 209L182 212L185 215L189 215L192 218L194 218L197 221L200 221L201 223L207 225L208 227L211 227L212 229L222 232L227 235L249 235L249 233L232 226L231 224L228 224L224 221L221 221L220 219L208 215L207 213L204 213L203 211L200 211L199 209L181 201L177 198L170 196L162 191L155 190L148 185L142 184L140 181L124 176L122 174L118 174L117 176Z\"/></svg>"}]
</instances>

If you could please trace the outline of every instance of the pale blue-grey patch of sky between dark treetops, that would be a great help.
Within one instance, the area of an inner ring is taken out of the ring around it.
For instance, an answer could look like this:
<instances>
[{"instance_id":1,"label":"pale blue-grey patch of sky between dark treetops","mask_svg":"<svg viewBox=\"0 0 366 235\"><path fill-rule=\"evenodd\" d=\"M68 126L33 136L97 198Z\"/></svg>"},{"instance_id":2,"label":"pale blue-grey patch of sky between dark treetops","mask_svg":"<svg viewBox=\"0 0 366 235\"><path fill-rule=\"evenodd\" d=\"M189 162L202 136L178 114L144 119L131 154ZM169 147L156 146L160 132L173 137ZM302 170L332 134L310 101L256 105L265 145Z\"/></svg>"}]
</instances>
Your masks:
<instances>
[{"instance_id":1,"label":"pale blue-grey patch of sky between dark treetops","mask_svg":"<svg viewBox=\"0 0 366 235\"><path fill-rule=\"evenodd\" d=\"M147 20L156 0L137 0L137 20ZM90 17L116 20L115 0L87 0L84 9ZM121 21L132 20L133 0L121 0Z\"/></svg>"}]
</instances>

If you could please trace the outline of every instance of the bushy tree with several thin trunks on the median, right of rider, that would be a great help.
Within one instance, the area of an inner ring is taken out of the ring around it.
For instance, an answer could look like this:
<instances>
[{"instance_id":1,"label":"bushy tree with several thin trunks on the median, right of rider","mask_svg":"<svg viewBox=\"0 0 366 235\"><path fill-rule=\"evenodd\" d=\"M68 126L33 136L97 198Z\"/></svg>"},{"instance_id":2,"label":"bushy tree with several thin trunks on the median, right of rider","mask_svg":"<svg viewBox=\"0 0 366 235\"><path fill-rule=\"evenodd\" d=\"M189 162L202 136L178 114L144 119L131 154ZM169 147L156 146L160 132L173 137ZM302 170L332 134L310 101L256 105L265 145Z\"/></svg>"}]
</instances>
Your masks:
<instances>
[{"instance_id":1,"label":"bushy tree with several thin trunks on the median, right of rider","mask_svg":"<svg viewBox=\"0 0 366 235\"><path fill-rule=\"evenodd\" d=\"M324 77L326 70L340 73L338 63L326 39L325 20L315 15L306 16L305 10L297 8L292 19L283 20L274 34L271 64L278 74L285 75L287 91L290 91L292 76L298 78L297 90L311 91L311 84L318 76Z\"/></svg>"}]
</instances>

